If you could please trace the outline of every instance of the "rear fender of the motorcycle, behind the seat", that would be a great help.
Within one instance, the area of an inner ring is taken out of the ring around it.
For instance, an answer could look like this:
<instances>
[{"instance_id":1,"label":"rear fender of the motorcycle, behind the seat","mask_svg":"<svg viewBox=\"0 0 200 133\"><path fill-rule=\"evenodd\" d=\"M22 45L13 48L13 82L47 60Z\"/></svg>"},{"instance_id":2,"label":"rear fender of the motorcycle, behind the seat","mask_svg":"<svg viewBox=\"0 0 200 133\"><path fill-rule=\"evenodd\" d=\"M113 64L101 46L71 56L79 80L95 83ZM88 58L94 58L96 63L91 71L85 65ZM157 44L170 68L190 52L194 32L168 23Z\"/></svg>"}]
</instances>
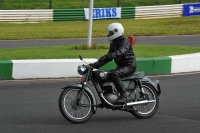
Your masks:
<instances>
[{"instance_id":1,"label":"rear fender of the motorcycle, behind the seat","mask_svg":"<svg viewBox=\"0 0 200 133\"><path fill-rule=\"evenodd\" d=\"M144 77L143 79L141 79L141 82L152 85L156 89L158 96L161 94L160 84L158 80L151 80L150 78Z\"/></svg>"}]
</instances>

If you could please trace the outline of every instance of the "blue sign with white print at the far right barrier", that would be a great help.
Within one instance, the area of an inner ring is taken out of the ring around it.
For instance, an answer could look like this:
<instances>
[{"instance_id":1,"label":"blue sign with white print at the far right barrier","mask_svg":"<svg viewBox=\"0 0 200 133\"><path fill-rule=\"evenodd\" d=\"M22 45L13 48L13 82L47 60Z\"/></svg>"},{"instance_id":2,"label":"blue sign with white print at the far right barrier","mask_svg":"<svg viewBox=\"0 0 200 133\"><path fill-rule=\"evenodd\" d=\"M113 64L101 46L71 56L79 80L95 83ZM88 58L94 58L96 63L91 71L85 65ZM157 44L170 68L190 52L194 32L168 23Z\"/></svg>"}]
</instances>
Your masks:
<instances>
[{"instance_id":1,"label":"blue sign with white print at the far right barrier","mask_svg":"<svg viewBox=\"0 0 200 133\"><path fill-rule=\"evenodd\" d=\"M183 5L184 16L198 16L200 15L200 3Z\"/></svg>"}]
</instances>

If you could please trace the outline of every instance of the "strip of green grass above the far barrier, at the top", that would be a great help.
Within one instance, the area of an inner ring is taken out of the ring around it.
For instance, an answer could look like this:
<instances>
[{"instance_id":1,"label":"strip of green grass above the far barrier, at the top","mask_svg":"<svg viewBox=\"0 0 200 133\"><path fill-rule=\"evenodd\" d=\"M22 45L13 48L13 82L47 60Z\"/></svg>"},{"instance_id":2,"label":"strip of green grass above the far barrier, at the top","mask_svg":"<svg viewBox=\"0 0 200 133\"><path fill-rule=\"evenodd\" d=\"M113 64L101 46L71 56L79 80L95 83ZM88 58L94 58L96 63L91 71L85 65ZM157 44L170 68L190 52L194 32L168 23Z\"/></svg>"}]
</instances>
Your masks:
<instances>
[{"instance_id":1,"label":"strip of green grass above the far barrier, at the top","mask_svg":"<svg viewBox=\"0 0 200 133\"><path fill-rule=\"evenodd\" d=\"M119 6L151 6L179 3L194 3L199 0L119 0ZM52 8L85 8L89 0L52 0ZM94 7L116 7L117 0L94 0ZM0 10L3 9L48 9L50 0L0 0Z\"/></svg>"}]
</instances>

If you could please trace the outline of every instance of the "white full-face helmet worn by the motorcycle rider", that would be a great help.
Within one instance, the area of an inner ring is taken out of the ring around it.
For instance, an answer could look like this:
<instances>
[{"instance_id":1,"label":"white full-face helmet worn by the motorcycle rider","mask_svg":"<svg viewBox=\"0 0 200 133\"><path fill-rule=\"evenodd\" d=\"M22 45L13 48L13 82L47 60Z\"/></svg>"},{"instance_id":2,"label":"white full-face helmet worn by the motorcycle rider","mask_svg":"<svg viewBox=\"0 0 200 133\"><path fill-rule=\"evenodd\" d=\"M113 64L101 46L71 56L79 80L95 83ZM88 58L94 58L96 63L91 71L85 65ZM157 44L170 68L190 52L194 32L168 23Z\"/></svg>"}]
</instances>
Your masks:
<instances>
[{"instance_id":1,"label":"white full-face helmet worn by the motorcycle rider","mask_svg":"<svg viewBox=\"0 0 200 133\"><path fill-rule=\"evenodd\" d=\"M124 28L120 23L112 23L107 28L107 40L111 42L124 34Z\"/></svg>"}]
</instances>

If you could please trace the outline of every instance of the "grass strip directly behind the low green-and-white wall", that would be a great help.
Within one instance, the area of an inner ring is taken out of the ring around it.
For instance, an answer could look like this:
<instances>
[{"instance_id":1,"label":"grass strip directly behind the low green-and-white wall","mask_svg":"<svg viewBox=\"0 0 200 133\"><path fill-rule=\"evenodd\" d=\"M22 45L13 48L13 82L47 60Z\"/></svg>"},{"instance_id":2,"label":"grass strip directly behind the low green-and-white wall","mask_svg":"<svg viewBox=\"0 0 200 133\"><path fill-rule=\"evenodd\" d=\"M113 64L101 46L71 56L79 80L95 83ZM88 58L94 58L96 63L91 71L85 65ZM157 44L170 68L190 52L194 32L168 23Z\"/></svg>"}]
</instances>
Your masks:
<instances>
[{"instance_id":1,"label":"grass strip directly behind the low green-and-white wall","mask_svg":"<svg viewBox=\"0 0 200 133\"><path fill-rule=\"evenodd\" d=\"M70 59L100 58L108 52L108 49L98 50L74 50L74 45L45 46L31 48L6 48L0 49L0 60L16 59ZM159 57L200 52L200 47L187 46L161 46L161 45L137 45L133 47L136 57Z\"/></svg>"}]
</instances>

